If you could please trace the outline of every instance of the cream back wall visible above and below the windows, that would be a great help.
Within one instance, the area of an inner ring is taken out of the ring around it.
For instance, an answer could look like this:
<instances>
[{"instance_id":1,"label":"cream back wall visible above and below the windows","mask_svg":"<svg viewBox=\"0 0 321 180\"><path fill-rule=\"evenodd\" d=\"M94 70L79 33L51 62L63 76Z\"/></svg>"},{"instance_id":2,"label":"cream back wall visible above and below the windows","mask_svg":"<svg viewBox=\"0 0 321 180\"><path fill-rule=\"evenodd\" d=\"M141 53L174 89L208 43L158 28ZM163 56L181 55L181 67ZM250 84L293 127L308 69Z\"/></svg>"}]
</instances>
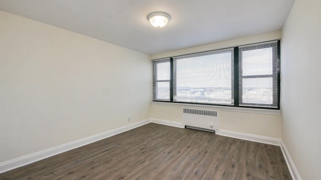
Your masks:
<instances>
[{"instance_id":1,"label":"cream back wall visible above and below the windows","mask_svg":"<svg viewBox=\"0 0 321 180\"><path fill-rule=\"evenodd\" d=\"M253 35L233 40L227 40L207 45L201 45L186 49L174 50L165 53L153 54L152 59L183 55L188 53L201 52L206 50L221 49L238 45L245 45L281 38L281 31L269 32L264 34ZM211 109L217 109L215 106ZM272 138L281 138L282 135L282 117L281 114L251 113L238 112L229 110L218 110L220 129L235 132L249 133ZM150 117L183 122L182 107L171 105L152 104L150 107Z\"/></svg>"}]
</instances>

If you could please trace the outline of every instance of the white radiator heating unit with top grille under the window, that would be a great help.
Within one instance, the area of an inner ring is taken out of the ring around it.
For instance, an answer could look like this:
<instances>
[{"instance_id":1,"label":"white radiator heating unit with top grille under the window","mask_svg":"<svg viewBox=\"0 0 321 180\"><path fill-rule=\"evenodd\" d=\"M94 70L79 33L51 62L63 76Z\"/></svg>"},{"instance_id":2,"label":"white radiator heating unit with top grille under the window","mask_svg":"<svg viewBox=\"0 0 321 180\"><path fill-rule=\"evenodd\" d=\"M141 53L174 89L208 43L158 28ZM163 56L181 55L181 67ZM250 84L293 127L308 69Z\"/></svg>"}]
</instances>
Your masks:
<instances>
[{"instance_id":1,"label":"white radiator heating unit with top grille under the window","mask_svg":"<svg viewBox=\"0 0 321 180\"><path fill-rule=\"evenodd\" d=\"M219 119L216 110L183 108L183 122L185 127L218 132Z\"/></svg>"}]
</instances>

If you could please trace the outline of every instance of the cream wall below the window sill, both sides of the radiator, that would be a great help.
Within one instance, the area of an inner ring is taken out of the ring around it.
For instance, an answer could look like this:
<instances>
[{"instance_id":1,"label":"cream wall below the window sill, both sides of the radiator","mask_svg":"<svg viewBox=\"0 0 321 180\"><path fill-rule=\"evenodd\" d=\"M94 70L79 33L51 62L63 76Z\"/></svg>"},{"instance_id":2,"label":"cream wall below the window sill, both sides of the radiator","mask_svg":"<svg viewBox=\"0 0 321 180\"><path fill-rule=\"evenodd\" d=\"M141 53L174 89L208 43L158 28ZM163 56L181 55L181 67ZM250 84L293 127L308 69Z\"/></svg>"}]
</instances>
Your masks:
<instances>
[{"instance_id":1,"label":"cream wall below the window sill, both sides of the radiator","mask_svg":"<svg viewBox=\"0 0 321 180\"><path fill-rule=\"evenodd\" d=\"M150 117L183 123L182 106L152 104ZM221 130L248 133L272 138L282 136L282 116L280 114L252 113L222 110L224 107L196 107L218 111ZM219 110L218 110L219 109Z\"/></svg>"}]
</instances>

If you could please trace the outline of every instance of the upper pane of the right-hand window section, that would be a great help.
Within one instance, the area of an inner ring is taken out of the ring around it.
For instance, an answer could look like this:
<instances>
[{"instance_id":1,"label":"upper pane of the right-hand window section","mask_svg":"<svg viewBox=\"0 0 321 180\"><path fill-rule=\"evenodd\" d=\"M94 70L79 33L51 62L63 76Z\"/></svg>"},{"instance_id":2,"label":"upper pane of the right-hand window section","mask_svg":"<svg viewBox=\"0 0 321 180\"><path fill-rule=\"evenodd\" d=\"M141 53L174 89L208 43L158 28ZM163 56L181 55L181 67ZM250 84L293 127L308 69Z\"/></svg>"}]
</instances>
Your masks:
<instances>
[{"instance_id":1,"label":"upper pane of the right-hand window section","mask_svg":"<svg viewBox=\"0 0 321 180\"><path fill-rule=\"evenodd\" d=\"M242 51L242 75L272 74L272 47Z\"/></svg>"}]
</instances>

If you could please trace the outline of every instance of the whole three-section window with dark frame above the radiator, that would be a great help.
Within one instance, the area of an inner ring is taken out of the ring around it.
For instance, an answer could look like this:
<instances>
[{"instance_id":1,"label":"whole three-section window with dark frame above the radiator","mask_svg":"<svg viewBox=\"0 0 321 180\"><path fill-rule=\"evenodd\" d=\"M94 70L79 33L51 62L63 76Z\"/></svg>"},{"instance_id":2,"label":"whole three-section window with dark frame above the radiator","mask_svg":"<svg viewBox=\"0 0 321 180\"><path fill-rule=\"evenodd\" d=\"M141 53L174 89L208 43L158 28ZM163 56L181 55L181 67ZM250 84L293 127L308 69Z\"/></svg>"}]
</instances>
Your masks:
<instances>
[{"instance_id":1,"label":"whole three-section window with dark frame above the radiator","mask_svg":"<svg viewBox=\"0 0 321 180\"><path fill-rule=\"evenodd\" d=\"M153 100L279 108L279 41L153 61Z\"/></svg>"}]
</instances>

